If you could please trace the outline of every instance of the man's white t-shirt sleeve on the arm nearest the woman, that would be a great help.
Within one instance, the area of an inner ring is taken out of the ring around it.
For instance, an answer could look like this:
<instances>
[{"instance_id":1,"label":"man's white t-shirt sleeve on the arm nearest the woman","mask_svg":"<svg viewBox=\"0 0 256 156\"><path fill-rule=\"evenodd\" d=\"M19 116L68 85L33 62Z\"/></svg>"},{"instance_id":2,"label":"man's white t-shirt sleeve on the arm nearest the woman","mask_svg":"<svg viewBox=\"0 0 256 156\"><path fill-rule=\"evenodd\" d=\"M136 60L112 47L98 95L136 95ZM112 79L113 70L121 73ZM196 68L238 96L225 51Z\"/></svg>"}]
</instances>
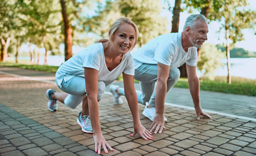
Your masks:
<instances>
[{"instance_id":1,"label":"man's white t-shirt sleeve on the arm nearest the woman","mask_svg":"<svg viewBox=\"0 0 256 156\"><path fill-rule=\"evenodd\" d=\"M170 66L174 51L174 46L169 42L160 42L155 49L154 59L157 62Z\"/></svg>"}]
</instances>

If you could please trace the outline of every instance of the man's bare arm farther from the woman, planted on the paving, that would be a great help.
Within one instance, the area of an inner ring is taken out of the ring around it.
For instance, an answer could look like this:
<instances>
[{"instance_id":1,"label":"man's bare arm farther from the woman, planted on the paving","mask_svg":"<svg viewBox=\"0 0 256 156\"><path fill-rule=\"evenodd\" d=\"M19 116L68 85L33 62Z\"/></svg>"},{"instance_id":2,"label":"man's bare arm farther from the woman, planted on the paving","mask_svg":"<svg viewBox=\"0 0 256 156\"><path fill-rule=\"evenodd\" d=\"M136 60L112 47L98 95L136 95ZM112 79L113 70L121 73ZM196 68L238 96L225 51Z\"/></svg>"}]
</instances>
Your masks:
<instances>
[{"instance_id":1,"label":"man's bare arm farther from the woman, planted on the paving","mask_svg":"<svg viewBox=\"0 0 256 156\"><path fill-rule=\"evenodd\" d=\"M196 66L189 66L186 64L186 68L187 68L187 80L189 83L189 90L193 99L195 112L197 113L197 120L200 120L200 115L206 116L206 118L211 118L211 116L203 112L200 107L200 97L199 97L200 83L199 83L199 78L197 77Z\"/></svg>"}]
</instances>

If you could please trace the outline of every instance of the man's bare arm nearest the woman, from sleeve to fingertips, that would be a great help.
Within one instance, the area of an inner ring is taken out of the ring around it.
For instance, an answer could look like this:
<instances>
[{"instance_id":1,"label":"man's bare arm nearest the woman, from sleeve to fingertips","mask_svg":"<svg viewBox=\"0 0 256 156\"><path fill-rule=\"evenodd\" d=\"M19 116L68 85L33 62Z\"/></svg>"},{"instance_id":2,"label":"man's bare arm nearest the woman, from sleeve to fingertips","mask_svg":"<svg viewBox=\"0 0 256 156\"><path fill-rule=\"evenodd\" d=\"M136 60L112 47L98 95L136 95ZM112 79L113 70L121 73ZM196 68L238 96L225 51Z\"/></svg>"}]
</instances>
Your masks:
<instances>
[{"instance_id":1,"label":"man's bare arm nearest the woman, from sleeve to fingertips","mask_svg":"<svg viewBox=\"0 0 256 156\"><path fill-rule=\"evenodd\" d=\"M155 118L150 127L152 132L161 133L165 127L164 110L165 110L165 96L167 94L167 79L170 73L170 66L157 63L157 89L155 92Z\"/></svg>"}]
</instances>

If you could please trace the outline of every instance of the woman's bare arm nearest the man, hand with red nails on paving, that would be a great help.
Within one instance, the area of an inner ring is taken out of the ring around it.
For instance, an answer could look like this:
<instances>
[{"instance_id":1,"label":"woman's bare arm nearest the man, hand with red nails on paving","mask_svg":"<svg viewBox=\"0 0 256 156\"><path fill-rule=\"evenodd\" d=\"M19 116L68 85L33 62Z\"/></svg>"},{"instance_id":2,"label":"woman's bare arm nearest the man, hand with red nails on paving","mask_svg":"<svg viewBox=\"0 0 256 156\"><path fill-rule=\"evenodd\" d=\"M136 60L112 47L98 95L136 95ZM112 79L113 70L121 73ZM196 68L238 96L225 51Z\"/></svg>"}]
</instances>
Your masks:
<instances>
[{"instance_id":1,"label":"woman's bare arm nearest the man, hand with red nails on paving","mask_svg":"<svg viewBox=\"0 0 256 156\"><path fill-rule=\"evenodd\" d=\"M135 132L142 136L145 140L152 139L152 134L140 123L140 116L138 115L138 99L136 95L134 76L123 73L123 85L125 88L125 98L128 101L131 114L133 115L133 125Z\"/></svg>"}]
</instances>

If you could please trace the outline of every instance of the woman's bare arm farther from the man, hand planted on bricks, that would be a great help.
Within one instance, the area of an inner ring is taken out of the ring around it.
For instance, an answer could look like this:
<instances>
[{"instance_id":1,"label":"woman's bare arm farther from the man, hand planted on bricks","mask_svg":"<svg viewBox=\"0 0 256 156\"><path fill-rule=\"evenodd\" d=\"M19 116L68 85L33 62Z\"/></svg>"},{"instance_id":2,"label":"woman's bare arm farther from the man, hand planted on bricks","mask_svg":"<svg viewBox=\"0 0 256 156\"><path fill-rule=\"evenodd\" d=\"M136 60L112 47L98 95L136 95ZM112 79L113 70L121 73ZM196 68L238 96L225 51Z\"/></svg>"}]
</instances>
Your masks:
<instances>
[{"instance_id":1,"label":"woman's bare arm farther from the man, hand planted on bricks","mask_svg":"<svg viewBox=\"0 0 256 156\"><path fill-rule=\"evenodd\" d=\"M108 149L114 150L106 142L101 133L101 125L99 122L99 103L98 96L98 71L93 68L84 69L84 77L86 79L86 94L88 97L89 116L91 119L91 127L93 128L93 138L95 142L95 152L101 154L101 148L105 153ZM108 148L108 149L107 149Z\"/></svg>"}]
</instances>

